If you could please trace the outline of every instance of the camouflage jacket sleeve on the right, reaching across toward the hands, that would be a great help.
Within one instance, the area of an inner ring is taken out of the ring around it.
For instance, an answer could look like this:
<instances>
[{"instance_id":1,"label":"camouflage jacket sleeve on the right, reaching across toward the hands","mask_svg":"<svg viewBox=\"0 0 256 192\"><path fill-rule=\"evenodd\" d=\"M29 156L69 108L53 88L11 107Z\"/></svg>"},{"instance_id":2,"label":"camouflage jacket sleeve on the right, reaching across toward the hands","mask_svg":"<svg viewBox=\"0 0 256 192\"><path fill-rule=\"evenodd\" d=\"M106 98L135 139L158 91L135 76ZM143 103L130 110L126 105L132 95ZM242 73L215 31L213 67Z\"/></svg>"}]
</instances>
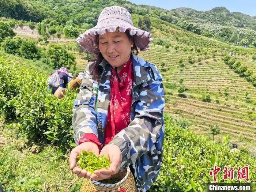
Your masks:
<instances>
[{"instance_id":1,"label":"camouflage jacket sleeve on the right, reaching across toward the hands","mask_svg":"<svg viewBox=\"0 0 256 192\"><path fill-rule=\"evenodd\" d=\"M121 171L149 151L156 143L163 125L165 106L162 79L143 83L135 117L127 128L117 133L109 144L117 145L122 154ZM163 130L164 131L164 130Z\"/></svg>"}]
</instances>

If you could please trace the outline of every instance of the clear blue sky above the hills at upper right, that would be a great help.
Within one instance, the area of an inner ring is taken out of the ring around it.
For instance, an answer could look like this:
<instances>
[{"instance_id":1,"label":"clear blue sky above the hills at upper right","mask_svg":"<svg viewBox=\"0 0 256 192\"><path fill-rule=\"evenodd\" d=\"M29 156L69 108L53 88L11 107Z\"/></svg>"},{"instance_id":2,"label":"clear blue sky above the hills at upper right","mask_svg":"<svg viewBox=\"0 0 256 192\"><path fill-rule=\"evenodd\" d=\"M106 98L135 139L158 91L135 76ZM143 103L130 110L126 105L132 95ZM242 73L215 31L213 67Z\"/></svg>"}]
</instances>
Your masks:
<instances>
[{"instance_id":1,"label":"clear blue sky above the hills at upper right","mask_svg":"<svg viewBox=\"0 0 256 192\"><path fill-rule=\"evenodd\" d=\"M256 0L128 0L137 5L153 5L167 10L188 7L197 11L209 11L214 7L226 7L230 12L256 16Z\"/></svg>"}]
</instances>

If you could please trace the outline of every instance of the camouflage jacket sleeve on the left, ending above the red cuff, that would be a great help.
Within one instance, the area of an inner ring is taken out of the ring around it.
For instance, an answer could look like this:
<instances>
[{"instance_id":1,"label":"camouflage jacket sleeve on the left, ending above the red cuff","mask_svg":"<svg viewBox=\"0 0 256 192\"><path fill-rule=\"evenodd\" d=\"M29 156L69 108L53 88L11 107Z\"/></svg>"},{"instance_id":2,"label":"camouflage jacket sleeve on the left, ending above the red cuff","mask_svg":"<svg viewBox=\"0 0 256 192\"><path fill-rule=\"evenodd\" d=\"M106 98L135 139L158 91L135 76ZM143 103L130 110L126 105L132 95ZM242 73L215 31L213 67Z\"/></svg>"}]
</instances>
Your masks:
<instances>
[{"instance_id":1,"label":"camouflage jacket sleeve on the left, ending above the red cuff","mask_svg":"<svg viewBox=\"0 0 256 192\"><path fill-rule=\"evenodd\" d=\"M88 63L80 91L76 96L73 108L74 139L78 144L80 138L86 133L93 133L98 137L95 104L97 99L98 82L90 75Z\"/></svg>"}]
</instances>

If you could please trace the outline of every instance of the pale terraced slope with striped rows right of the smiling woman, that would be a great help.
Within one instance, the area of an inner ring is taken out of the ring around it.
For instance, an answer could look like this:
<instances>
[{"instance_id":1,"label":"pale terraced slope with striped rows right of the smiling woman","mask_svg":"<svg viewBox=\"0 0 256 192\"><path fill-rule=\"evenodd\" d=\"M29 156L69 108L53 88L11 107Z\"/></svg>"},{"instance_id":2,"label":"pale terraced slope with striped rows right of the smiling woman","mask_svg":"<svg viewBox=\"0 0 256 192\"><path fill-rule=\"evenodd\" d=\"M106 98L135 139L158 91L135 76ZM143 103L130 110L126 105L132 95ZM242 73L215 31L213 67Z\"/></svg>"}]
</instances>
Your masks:
<instances>
[{"instance_id":1,"label":"pale terraced slope with striped rows right of the smiling woman","mask_svg":"<svg viewBox=\"0 0 256 192\"><path fill-rule=\"evenodd\" d=\"M210 59L183 70L164 72L166 111L176 117L185 117L192 128L200 133L210 133L210 124L217 124L221 133L230 133L234 142L244 144L246 140L255 150L256 138L256 92L251 83L240 78L221 59ZM176 87L184 79L188 87L179 97ZM168 87L171 87L168 88ZM210 94L208 102L203 94Z\"/></svg>"}]
</instances>

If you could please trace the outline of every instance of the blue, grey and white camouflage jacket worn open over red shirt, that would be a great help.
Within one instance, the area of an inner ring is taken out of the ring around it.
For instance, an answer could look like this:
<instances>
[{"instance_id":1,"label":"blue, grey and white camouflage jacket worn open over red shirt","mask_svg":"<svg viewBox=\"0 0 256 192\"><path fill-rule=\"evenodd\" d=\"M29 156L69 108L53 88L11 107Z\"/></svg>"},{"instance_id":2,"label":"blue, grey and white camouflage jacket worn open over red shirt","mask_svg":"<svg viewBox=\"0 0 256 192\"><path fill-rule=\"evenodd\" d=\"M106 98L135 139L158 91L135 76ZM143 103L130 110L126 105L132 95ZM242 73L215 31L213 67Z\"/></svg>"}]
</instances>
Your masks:
<instances>
[{"instance_id":1,"label":"blue, grey and white camouflage jacket worn open over red shirt","mask_svg":"<svg viewBox=\"0 0 256 192\"><path fill-rule=\"evenodd\" d=\"M154 64L132 54L134 83L131 120L109 144L122 154L121 171L132 164L138 191L146 192L157 179L163 155L164 120L162 76ZM110 102L111 65L103 59L99 82L90 75L89 62L74 102L74 139L78 144L85 133L94 133L104 143Z\"/></svg>"}]
</instances>

